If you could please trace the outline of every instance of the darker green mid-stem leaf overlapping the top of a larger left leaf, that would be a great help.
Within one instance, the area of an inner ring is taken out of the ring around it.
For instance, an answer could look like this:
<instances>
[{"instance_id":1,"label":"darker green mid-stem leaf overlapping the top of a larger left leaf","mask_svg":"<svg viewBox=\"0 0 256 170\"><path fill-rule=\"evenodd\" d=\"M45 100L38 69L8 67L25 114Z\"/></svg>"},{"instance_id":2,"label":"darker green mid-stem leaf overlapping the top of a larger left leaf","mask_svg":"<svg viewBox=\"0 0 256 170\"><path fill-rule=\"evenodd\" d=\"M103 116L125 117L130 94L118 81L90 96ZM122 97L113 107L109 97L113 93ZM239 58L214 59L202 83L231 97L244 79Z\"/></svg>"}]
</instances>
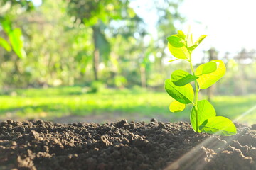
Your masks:
<instances>
[{"instance_id":1,"label":"darker green mid-stem leaf overlapping the top of a larger left leaf","mask_svg":"<svg viewBox=\"0 0 256 170\"><path fill-rule=\"evenodd\" d=\"M178 69L171 74L171 81L173 81L176 86L184 86L196 79L198 79L198 77L195 77L181 69Z\"/></svg>"}]
</instances>

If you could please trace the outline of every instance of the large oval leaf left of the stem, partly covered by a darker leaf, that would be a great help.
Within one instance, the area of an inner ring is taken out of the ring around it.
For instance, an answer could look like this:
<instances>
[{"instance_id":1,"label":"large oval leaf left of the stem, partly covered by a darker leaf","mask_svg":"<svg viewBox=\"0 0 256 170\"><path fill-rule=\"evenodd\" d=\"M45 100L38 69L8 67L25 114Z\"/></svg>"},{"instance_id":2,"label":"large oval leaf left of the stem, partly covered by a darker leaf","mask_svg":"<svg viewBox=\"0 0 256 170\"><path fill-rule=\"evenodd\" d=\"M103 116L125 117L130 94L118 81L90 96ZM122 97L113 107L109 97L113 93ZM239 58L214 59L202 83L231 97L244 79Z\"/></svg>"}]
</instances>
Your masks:
<instances>
[{"instance_id":1,"label":"large oval leaf left of the stem, partly covered by a darker leaf","mask_svg":"<svg viewBox=\"0 0 256 170\"><path fill-rule=\"evenodd\" d=\"M166 79L164 82L164 87L166 92L183 104L192 103L194 93L191 84L186 84L185 86L176 86L170 79Z\"/></svg>"}]
</instances>

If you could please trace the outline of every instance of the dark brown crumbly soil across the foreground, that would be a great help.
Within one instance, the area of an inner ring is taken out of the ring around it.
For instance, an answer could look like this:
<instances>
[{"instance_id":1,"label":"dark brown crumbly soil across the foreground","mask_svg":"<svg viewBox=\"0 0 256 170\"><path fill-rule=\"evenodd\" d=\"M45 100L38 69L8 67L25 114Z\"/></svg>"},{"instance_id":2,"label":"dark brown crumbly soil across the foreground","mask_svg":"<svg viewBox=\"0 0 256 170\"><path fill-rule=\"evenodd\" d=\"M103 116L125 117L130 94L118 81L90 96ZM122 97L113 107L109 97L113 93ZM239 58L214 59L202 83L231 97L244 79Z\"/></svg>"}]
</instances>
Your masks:
<instances>
[{"instance_id":1,"label":"dark brown crumbly soil across the foreground","mask_svg":"<svg viewBox=\"0 0 256 170\"><path fill-rule=\"evenodd\" d=\"M0 123L0 169L256 169L256 124L230 137L186 122Z\"/></svg>"}]
</instances>

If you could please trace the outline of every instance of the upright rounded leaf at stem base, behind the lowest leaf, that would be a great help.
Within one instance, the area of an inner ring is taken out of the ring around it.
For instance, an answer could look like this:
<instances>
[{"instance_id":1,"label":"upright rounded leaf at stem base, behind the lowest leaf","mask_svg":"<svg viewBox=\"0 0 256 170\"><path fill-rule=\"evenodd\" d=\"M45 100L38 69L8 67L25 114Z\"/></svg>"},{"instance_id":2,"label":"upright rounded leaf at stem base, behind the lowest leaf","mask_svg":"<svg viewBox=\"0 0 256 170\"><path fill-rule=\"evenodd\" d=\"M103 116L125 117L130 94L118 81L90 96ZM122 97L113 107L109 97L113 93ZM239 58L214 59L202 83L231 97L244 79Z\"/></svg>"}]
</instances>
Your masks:
<instances>
[{"instance_id":1,"label":"upright rounded leaf at stem base, behind the lowest leaf","mask_svg":"<svg viewBox=\"0 0 256 170\"><path fill-rule=\"evenodd\" d=\"M210 104L210 102L208 102L206 100L198 101L197 113L198 113L198 126L201 125L206 119L216 116L215 109ZM193 106L193 108L191 110L190 119L191 119L191 126L192 126L193 130L196 131L196 108L195 108L195 106ZM199 132L201 132L201 131L199 130Z\"/></svg>"}]
</instances>

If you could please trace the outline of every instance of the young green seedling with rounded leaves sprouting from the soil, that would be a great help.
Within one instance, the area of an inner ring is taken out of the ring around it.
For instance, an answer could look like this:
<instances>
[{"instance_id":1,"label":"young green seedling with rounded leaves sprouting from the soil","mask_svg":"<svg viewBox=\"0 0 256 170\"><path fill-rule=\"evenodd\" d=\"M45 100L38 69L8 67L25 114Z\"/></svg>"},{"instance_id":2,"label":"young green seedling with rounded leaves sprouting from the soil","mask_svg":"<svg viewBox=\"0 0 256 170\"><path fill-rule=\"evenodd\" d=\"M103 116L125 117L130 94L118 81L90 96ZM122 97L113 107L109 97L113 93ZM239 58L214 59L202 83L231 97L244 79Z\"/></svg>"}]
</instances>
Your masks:
<instances>
[{"instance_id":1,"label":"young green seedling with rounded leaves sprouting from the soil","mask_svg":"<svg viewBox=\"0 0 256 170\"><path fill-rule=\"evenodd\" d=\"M215 84L225 74L225 64L221 60L212 60L201 64L194 71L191 54L193 50L206 38L206 35L193 42L192 34L184 34L178 30L178 34L167 38L168 48L174 60L186 60L189 62L192 74L183 70L176 70L171 74L171 79L166 79L166 92L175 99L169 106L171 112L183 111L186 104L192 103L190 120L194 131L207 132L218 135L235 135L236 128L233 122L223 116L216 116L214 107L209 101L198 101L198 93L201 89L207 89ZM174 60L170 60L172 62ZM191 83L194 82L195 90Z\"/></svg>"}]
</instances>

